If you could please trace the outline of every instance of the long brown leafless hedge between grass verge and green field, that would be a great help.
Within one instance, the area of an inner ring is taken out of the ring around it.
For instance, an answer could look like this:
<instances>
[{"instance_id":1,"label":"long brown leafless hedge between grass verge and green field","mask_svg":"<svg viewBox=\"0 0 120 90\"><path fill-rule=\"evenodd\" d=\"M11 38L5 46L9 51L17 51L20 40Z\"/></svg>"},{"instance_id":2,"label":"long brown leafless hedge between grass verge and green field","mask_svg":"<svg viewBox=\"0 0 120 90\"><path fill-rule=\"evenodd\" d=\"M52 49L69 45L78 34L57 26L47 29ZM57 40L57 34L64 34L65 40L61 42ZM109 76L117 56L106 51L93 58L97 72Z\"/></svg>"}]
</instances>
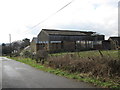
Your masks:
<instances>
[{"instance_id":1,"label":"long brown leafless hedge between grass verge and green field","mask_svg":"<svg viewBox=\"0 0 120 90\"><path fill-rule=\"evenodd\" d=\"M120 77L120 60L110 56L80 57L76 54L50 56L49 65L71 73L88 73L92 77Z\"/></svg>"}]
</instances>

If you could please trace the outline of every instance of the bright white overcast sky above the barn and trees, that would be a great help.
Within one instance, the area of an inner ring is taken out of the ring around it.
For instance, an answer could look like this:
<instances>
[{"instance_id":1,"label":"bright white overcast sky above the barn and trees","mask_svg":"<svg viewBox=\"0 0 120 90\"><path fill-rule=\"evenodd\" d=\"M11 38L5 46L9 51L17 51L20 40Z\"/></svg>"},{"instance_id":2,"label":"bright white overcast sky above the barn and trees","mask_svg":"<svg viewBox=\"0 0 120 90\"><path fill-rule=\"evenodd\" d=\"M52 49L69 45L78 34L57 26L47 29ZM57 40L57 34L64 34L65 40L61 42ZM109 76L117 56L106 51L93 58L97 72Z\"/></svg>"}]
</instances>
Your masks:
<instances>
[{"instance_id":1,"label":"bright white overcast sky above the barn and trees","mask_svg":"<svg viewBox=\"0 0 120 90\"><path fill-rule=\"evenodd\" d=\"M41 29L74 29L118 35L119 0L0 0L0 43L36 37ZM48 18L45 22L37 25Z\"/></svg>"}]
</instances>

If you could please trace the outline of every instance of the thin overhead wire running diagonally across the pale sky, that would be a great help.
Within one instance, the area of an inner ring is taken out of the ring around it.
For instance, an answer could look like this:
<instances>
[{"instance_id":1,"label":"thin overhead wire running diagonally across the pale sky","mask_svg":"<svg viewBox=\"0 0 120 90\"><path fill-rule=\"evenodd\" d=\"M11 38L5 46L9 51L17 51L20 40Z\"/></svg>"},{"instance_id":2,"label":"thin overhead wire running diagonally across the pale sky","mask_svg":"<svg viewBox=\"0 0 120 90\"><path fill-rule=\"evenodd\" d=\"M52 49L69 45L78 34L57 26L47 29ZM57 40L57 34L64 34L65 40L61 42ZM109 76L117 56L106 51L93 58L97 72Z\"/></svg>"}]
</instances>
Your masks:
<instances>
[{"instance_id":1,"label":"thin overhead wire running diagonally across the pale sky","mask_svg":"<svg viewBox=\"0 0 120 90\"><path fill-rule=\"evenodd\" d=\"M36 24L35 26L32 27L35 28L37 26L39 26L41 23L45 22L46 20L48 20L49 18L53 17L54 15L56 15L58 12L60 12L61 10L63 10L64 8L66 8L68 5L70 5L71 3L73 3L74 0L70 1L69 3L67 3L65 6L63 6L62 8L60 8L58 11L56 11L55 13L53 13L52 15L50 15L49 17L47 17L46 19L44 19L43 21L39 22L38 24Z\"/></svg>"}]
</instances>

